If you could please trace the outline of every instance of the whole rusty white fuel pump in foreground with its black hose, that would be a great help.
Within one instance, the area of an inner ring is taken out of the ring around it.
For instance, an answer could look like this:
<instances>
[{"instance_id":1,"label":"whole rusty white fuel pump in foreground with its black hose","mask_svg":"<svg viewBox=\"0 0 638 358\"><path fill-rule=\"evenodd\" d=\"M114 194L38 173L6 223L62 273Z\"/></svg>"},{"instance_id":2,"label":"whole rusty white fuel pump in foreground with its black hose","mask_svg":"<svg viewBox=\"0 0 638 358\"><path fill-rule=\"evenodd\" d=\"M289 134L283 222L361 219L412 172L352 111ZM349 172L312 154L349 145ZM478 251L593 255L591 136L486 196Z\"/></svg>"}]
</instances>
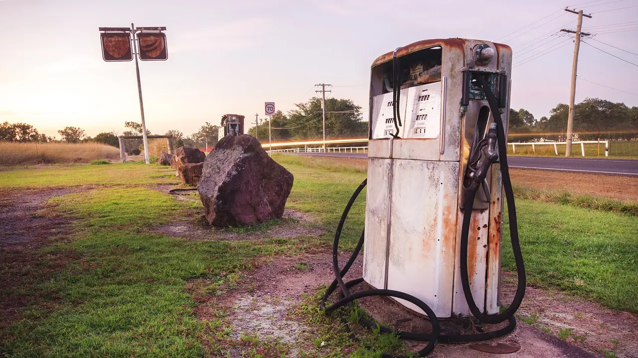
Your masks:
<instances>
[{"instance_id":1,"label":"whole rusty white fuel pump in foreground with its black hose","mask_svg":"<svg viewBox=\"0 0 638 358\"><path fill-rule=\"evenodd\" d=\"M514 330L525 271L505 139L511 67L507 45L461 38L419 41L373 62L368 177L338 224L336 278L321 307L337 288L339 300L327 313L360 297L392 297L431 321L431 334L398 332L428 342L421 356L439 341L488 340ZM366 185L365 230L339 268L341 229ZM519 282L514 301L500 313L503 199ZM344 282L362 247L363 277ZM363 281L374 289L349 292ZM508 325L487 333L440 333L439 320L470 316Z\"/></svg>"}]
</instances>

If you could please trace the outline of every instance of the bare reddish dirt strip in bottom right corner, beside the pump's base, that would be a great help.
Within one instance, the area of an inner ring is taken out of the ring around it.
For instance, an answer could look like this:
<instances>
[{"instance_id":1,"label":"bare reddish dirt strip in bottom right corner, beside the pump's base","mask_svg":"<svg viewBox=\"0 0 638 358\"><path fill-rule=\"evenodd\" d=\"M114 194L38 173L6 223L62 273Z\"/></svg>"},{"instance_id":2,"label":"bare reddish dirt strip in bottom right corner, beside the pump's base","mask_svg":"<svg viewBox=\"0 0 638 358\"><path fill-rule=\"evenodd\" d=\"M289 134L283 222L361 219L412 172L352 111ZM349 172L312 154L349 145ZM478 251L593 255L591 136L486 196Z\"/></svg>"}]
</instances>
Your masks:
<instances>
[{"instance_id":1,"label":"bare reddish dirt strip in bottom right corner, beside the pump's base","mask_svg":"<svg viewBox=\"0 0 638 358\"><path fill-rule=\"evenodd\" d=\"M516 276L503 276L503 302L508 303L516 291ZM618 357L638 358L638 314L614 311L600 304L570 296L558 290L527 287L519 317L549 329L557 336L588 352L616 352Z\"/></svg>"}]
</instances>

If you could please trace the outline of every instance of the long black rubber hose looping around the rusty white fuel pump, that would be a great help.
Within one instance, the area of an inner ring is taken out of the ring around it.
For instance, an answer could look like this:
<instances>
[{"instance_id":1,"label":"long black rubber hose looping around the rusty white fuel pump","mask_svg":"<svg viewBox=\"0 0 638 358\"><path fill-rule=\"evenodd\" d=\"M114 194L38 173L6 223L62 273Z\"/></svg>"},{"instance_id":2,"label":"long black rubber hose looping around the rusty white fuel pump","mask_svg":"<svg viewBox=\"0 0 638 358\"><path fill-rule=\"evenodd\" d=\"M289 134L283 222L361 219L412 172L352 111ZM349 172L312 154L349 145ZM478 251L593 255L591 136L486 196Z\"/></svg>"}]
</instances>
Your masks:
<instances>
[{"instance_id":1,"label":"long black rubber hose looping around the rusty white fuel pump","mask_svg":"<svg viewBox=\"0 0 638 358\"><path fill-rule=\"evenodd\" d=\"M494 122L496 122L497 128L497 136L498 143L507 143L505 141L505 129L503 128L503 123L501 120L497 120L501 118L500 111L498 110L498 103L496 102L496 97L491 92L489 87L487 86L486 81L479 76L479 84L484 89L486 93L487 102L489 103L490 110L494 117ZM521 254L521 245L519 243L518 236L518 226L516 220L516 207L514 205L514 192L512 191L512 182L510 180L508 165L507 165L507 146L499 145L499 156L501 163L501 173L503 176L503 187L505 190L505 196L507 198L507 209L508 209L508 217L510 219L510 238L512 240L512 250L514 251L514 260L516 261L516 271L518 275L518 285L516 294L514 296L514 300L512 304L503 311L503 313L497 315L484 315L480 309L477 307L474 302L473 297L471 296L470 289L470 280L468 277L468 235L470 231L470 218L471 218L471 210L474 203L474 198L477 194L477 190L479 185L477 183L473 183L469 188L466 188L465 192L465 202L464 202L464 213L463 213L463 226L461 228L461 284L463 285L463 294L465 296L466 301L468 302L468 307L474 317L479 320L479 322L483 322L486 324L494 324L500 323L505 320L508 321L507 326L497 329L496 331L491 331L487 333L475 333L475 334L440 334L440 325L438 323L438 319L434 311L427 306L426 303L414 297L412 295L406 294L404 292L399 292L396 290L387 290L387 289L373 289L373 290L363 290L360 292L356 292L355 294L350 294L348 290L349 287L357 285L363 282L363 278L357 278L355 280L344 282L343 277L348 273L348 270L352 266L355 259L360 253L361 248L363 247L365 232L361 234L359 238L359 242L357 243L357 247L350 255L350 259L346 262L343 269L339 268L339 240L341 238L341 230L343 229L343 225L345 224L345 220L348 217L348 213L350 212L350 208L352 208L352 204L355 202L360 192L366 187L367 179L364 180L359 187L355 190L346 204L346 208L341 215L341 219L339 220L339 224L337 226L337 230L334 235L334 242L332 245L332 266L334 269L335 279L330 284L325 294L322 297L320 302L320 308L325 311L325 313L330 313L338 308L347 305L352 305L352 301L355 299L359 299L362 297L369 296L390 296L397 297L401 299L405 299L417 307L419 307L429 318L432 324L432 333L431 334L420 334L420 333L411 333L404 331L394 331L387 327L379 327L380 331L383 333L396 333L399 338L403 340L415 340L415 341L427 341L428 344L422 350L417 352L417 355L420 357L424 357L430 352L434 350L434 346L438 341L446 342L446 343L462 343L462 342L471 342L471 341L484 341L491 340L493 338L498 338L500 336L504 336L505 334L511 333L516 328L516 318L514 318L514 313L521 305L523 301L523 296L525 294L525 268L523 264L523 255ZM334 292L334 290L339 287L339 299L336 303L331 306L325 308L325 303L327 299L330 297L330 294ZM360 319L360 324L367 328L376 327L373 322L369 322L364 319ZM384 358L392 357L389 354L383 354ZM401 358L401 357L397 357Z\"/></svg>"}]
</instances>

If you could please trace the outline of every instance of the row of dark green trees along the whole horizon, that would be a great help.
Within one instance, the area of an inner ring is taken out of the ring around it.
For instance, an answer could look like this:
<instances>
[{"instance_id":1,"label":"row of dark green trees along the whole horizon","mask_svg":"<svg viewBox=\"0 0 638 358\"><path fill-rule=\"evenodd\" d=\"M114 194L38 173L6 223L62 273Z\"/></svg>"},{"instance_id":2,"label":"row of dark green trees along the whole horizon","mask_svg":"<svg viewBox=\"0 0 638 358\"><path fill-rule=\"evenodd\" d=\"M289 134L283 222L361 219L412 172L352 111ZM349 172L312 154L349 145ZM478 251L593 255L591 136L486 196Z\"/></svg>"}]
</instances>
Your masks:
<instances>
[{"instance_id":1,"label":"row of dark green trees along the whole horizon","mask_svg":"<svg viewBox=\"0 0 638 358\"><path fill-rule=\"evenodd\" d=\"M265 120L251 127L248 134L268 141L271 125L272 141L321 140L323 138L322 100L317 97L305 103L295 104L295 109L272 115L272 124ZM367 121L362 120L361 107L350 99L328 98L325 101L326 138L367 138ZM564 141L567 134L569 106L560 103L550 111L549 117L535 118L529 111L510 108L508 141ZM247 123L248 124L248 121ZM142 124L124 122L126 136L142 135ZM205 122L190 136L178 130L170 130L175 147L214 147L218 141L219 125ZM85 143L93 141L119 148L115 132L101 132L91 138L78 127L64 127L57 131L59 139L40 133L33 125L25 123L0 124L0 141L38 142L62 141ZM147 134L151 131L147 129ZM587 98L574 106L574 134L577 140L630 140L638 138L638 107L629 108L624 103L612 103L600 98ZM126 140L126 152L140 150L142 140Z\"/></svg>"}]
</instances>

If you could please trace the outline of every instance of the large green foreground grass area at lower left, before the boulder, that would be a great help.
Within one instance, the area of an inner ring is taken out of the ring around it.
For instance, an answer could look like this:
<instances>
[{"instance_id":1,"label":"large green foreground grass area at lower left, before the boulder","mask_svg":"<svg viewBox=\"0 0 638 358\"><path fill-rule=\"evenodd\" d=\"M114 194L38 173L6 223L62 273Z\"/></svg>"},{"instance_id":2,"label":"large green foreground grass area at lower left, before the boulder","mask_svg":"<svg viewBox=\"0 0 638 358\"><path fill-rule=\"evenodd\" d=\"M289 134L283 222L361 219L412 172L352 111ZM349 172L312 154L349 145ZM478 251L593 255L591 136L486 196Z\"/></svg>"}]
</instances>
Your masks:
<instances>
[{"instance_id":1,"label":"large green foreground grass area at lower left, before the boulder","mask_svg":"<svg viewBox=\"0 0 638 358\"><path fill-rule=\"evenodd\" d=\"M50 280L3 292L38 299L3 333L0 356L200 357L204 323L193 315L195 302L184 292L187 280L290 251L277 244L188 241L145 232L189 210L151 189L98 189L53 204L76 220L77 234L45 254L73 259Z\"/></svg>"}]
</instances>

